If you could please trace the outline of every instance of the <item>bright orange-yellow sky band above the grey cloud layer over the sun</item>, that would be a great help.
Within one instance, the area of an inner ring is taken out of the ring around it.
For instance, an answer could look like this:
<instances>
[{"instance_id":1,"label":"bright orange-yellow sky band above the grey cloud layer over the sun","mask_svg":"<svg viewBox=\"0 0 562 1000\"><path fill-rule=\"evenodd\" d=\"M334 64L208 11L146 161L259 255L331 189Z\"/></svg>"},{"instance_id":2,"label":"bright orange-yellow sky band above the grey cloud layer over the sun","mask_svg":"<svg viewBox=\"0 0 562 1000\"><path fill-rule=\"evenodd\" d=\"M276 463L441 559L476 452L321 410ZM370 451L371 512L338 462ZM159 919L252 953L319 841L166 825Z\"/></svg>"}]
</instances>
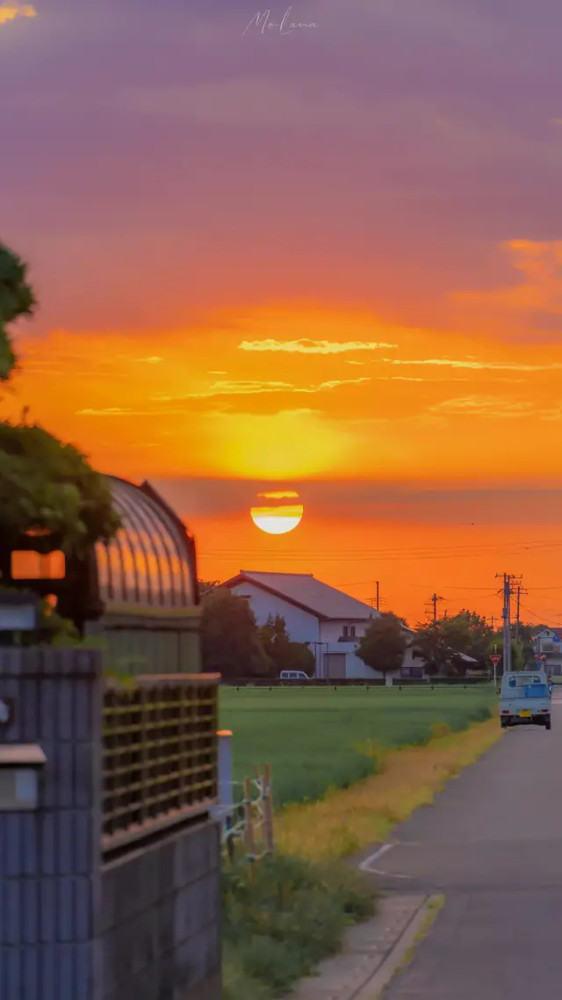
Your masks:
<instances>
[{"instance_id":1,"label":"bright orange-yellow sky band above the grey cloud layer over the sun","mask_svg":"<svg viewBox=\"0 0 562 1000\"><path fill-rule=\"evenodd\" d=\"M452 292L439 328L404 323L400 302L383 319L285 301L183 328L22 337L8 407L29 402L129 476L551 478L562 345L524 322L562 312L562 245L509 255L522 276Z\"/></svg>"}]
</instances>

